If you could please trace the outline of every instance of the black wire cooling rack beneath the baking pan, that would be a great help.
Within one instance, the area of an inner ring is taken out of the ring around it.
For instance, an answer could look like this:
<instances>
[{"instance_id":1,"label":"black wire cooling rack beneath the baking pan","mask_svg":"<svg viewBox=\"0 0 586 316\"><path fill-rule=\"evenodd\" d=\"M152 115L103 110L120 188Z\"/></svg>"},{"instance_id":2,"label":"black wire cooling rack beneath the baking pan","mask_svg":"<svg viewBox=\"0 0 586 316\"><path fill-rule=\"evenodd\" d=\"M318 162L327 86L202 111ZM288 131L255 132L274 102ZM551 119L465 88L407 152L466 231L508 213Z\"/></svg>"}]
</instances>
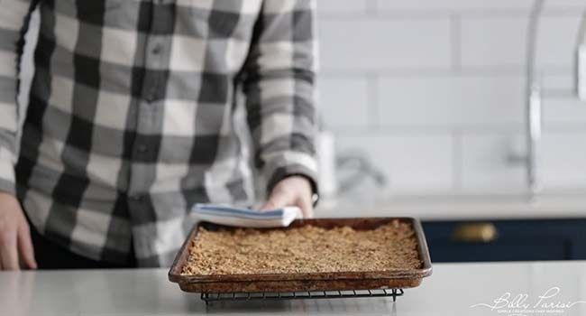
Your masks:
<instances>
[{"instance_id":1,"label":"black wire cooling rack beneath the baking pan","mask_svg":"<svg viewBox=\"0 0 586 316\"><path fill-rule=\"evenodd\" d=\"M402 289L356 290L356 291L316 291L286 293L201 293L201 299L209 302L225 301L279 301L304 299L343 299L361 297L392 297L393 302L403 295Z\"/></svg>"}]
</instances>

